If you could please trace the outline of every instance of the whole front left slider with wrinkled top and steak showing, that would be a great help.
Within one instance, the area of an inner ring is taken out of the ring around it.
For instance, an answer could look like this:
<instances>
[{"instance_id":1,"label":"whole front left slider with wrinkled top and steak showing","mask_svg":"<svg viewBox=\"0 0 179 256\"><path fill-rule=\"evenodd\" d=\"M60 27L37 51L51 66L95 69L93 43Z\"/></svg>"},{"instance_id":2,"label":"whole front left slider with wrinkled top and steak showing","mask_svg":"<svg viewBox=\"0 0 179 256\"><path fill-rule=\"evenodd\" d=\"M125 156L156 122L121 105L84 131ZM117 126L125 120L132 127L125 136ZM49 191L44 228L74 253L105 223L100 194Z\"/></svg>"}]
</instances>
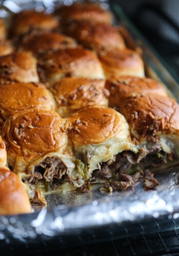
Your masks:
<instances>
[{"instance_id":1,"label":"whole front left slider with wrinkled top and steak showing","mask_svg":"<svg viewBox=\"0 0 179 256\"><path fill-rule=\"evenodd\" d=\"M8 165L22 180L33 203L46 204L42 192L71 190L68 173L74 168L65 120L56 112L26 110L3 126ZM72 187L72 188L71 188ZM51 189L52 188L52 189Z\"/></svg>"}]
</instances>

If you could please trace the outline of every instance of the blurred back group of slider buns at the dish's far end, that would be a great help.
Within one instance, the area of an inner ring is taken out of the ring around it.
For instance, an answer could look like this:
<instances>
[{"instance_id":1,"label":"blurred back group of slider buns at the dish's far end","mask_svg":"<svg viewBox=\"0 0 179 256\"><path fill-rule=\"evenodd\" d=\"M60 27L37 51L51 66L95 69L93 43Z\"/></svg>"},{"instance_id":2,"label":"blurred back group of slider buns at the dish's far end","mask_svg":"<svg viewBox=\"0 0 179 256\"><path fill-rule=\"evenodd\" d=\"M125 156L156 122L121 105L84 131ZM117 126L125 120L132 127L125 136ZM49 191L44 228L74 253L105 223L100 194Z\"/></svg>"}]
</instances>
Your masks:
<instances>
[{"instance_id":1,"label":"blurred back group of slider buns at the dish's far end","mask_svg":"<svg viewBox=\"0 0 179 256\"><path fill-rule=\"evenodd\" d=\"M65 8L66 12L72 12L69 7ZM74 11L80 13L80 8L82 6L77 4ZM94 13L99 9L99 16L103 16L101 22L100 19L91 22L91 19L80 18L72 21L67 15L67 20L60 23L55 16L29 10L15 14L9 33L11 45L5 39L0 42L0 82L51 83L69 76L143 77L144 63L140 53L126 47L118 28L109 23L106 10L97 5L93 8ZM105 16L106 23L103 23Z\"/></svg>"}]
</instances>

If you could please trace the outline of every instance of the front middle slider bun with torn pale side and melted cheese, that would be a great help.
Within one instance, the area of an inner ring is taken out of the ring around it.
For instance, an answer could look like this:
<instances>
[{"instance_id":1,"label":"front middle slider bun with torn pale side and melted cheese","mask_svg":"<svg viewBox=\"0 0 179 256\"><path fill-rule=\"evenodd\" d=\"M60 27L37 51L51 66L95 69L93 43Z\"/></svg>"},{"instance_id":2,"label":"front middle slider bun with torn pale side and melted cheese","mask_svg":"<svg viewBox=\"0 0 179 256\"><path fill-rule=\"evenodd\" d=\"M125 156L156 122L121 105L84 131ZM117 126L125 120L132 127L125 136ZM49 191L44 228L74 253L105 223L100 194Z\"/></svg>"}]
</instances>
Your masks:
<instances>
[{"instance_id":1,"label":"front middle slider bun with torn pale side and melted cheese","mask_svg":"<svg viewBox=\"0 0 179 256\"><path fill-rule=\"evenodd\" d=\"M131 143L127 121L114 109L98 106L81 109L71 115L68 122L75 157L87 163L87 178L98 169L99 163L135 147ZM82 185L80 181L81 177L78 177L74 184Z\"/></svg>"}]
</instances>

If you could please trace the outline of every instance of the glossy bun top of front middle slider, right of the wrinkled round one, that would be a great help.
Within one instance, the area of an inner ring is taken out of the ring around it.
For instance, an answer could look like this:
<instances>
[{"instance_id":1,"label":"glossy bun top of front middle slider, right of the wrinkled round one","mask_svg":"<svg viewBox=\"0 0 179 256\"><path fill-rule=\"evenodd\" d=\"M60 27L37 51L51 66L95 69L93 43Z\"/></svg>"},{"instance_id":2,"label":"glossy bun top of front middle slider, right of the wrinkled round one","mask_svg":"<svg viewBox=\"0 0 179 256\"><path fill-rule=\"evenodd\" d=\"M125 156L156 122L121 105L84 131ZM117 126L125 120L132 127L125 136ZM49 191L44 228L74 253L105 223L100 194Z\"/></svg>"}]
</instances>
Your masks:
<instances>
[{"instance_id":1,"label":"glossy bun top of front middle slider, right of the wrinkled round one","mask_svg":"<svg viewBox=\"0 0 179 256\"><path fill-rule=\"evenodd\" d=\"M109 108L89 107L71 115L69 135L76 146L99 144L122 128L118 113Z\"/></svg>"}]
</instances>

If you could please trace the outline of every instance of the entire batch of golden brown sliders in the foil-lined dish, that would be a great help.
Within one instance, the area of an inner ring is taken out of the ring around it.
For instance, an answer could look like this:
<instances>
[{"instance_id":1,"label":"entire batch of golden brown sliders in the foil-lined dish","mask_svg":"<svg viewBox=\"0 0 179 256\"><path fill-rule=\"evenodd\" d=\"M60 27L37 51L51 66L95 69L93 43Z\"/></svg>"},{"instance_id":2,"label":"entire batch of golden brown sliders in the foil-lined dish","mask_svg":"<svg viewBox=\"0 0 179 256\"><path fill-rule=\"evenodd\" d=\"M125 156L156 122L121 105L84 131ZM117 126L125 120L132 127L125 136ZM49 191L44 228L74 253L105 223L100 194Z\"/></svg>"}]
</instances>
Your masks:
<instances>
[{"instance_id":1,"label":"entire batch of golden brown sliders in the foil-lined dish","mask_svg":"<svg viewBox=\"0 0 179 256\"><path fill-rule=\"evenodd\" d=\"M144 77L140 51L112 24L109 11L83 3L20 12L8 30L0 23L2 195L15 180L0 214L98 182L111 192L143 179L151 189L150 170L177 160L179 106Z\"/></svg>"}]
</instances>

